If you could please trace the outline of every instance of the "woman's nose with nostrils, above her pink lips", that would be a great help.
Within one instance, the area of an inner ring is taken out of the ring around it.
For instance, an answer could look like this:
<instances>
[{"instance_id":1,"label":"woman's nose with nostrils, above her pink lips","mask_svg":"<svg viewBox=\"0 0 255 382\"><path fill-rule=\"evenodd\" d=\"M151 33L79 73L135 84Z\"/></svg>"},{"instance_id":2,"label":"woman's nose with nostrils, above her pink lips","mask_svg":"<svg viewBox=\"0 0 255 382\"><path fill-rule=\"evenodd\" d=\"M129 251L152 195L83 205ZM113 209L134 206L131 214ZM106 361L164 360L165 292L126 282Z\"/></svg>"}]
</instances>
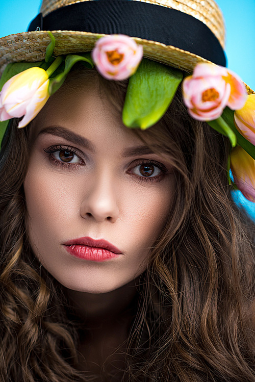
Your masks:
<instances>
[{"instance_id":1,"label":"woman's nose with nostrils, above her pink lips","mask_svg":"<svg viewBox=\"0 0 255 382\"><path fill-rule=\"evenodd\" d=\"M97 222L109 220L114 223L119 216L118 190L110 176L95 174L91 184L85 184L85 196L80 214L84 219L94 218Z\"/></svg>"}]
</instances>

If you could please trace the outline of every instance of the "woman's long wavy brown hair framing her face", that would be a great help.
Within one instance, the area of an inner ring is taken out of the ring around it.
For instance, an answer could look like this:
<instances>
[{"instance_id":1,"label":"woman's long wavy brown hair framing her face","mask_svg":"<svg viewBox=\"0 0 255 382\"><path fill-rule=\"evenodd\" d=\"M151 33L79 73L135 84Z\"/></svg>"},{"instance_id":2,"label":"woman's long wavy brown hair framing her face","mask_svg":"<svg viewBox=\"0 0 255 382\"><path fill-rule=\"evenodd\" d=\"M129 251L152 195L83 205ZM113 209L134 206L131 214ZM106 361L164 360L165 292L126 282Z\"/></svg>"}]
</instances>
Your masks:
<instances>
[{"instance_id":1,"label":"woman's long wavy brown hair framing her face","mask_svg":"<svg viewBox=\"0 0 255 382\"><path fill-rule=\"evenodd\" d=\"M96 77L121 111L127 81L106 81L80 67L69 78L79 75ZM23 181L29 127L16 126L14 120L0 158L0 380L91 381L95 376L78 370L79 325L70 318L64 289L28 240ZM230 144L189 117L180 89L157 130L134 134L164 147L177 188L137 286L118 380L254 382L254 231L232 200Z\"/></svg>"}]
</instances>

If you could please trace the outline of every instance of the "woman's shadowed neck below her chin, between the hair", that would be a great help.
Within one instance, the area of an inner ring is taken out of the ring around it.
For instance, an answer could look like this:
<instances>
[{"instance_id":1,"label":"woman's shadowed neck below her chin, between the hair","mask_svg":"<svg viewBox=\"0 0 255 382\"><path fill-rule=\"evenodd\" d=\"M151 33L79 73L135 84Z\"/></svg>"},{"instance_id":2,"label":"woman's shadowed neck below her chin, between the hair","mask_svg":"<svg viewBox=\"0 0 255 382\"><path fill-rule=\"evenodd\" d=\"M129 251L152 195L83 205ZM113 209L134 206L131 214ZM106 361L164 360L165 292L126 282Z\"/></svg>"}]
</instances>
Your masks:
<instances>
[{"instance_id":1,"label":"woman's shadowed neck below her chin, between the hair","mask_svg":"<svg viewBox=\"0 0 255 382\"><path fill-rule=\"evenodd\" d=\"M125 367L126 340L137 307L136 281L109 293L92 294L66 289L72 316L80 321L79 369L119 380ZM104 370L104 372L102 371Z\"/></svg>"}]
</instances>

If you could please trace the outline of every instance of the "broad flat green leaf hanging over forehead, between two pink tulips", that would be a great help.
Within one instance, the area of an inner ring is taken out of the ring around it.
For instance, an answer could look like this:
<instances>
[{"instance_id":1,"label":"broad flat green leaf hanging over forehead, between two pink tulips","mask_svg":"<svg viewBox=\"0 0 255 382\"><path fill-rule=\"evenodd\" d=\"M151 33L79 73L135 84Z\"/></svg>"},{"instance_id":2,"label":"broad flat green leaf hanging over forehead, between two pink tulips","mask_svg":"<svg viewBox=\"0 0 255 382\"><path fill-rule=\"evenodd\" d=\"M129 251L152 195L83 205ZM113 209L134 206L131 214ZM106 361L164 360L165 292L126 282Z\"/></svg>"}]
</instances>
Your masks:
<instances>
[{"instance_id":1,"label":"broad flat green leaf hanging over forehead, between two pink tulips","mask_svg":"<svg viewBox=\"0 0 255 382\"><path fill-rule=\"evenodd\" d=\"M157 123L168 109L183 73L159 62L143 59L130 77L122 112L129 128L145 130Z\"/></svg>"}]
</instances>

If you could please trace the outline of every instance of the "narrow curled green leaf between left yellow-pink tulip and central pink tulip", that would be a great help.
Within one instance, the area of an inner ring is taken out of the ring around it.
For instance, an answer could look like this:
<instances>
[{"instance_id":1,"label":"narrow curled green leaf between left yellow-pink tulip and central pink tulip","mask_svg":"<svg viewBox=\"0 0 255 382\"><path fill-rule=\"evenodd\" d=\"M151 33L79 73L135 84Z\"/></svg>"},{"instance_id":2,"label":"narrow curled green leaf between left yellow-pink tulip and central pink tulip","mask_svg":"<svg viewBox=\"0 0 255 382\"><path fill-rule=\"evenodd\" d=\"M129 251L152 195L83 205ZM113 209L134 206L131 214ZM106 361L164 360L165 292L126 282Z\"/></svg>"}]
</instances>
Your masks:
<instances>
[{"instance_id":1,"label":"narrow curled green leaf between left yellow-pink tulip and central pink tulip","mask_svg":"<svg viewBox=\"0 0 255 382\"><path fill-rule=\"evenodd\" d=\"M90 56L90 52L81 55L67 55L65 58L65 69L61 73L57 74L56 77L49 79L49 94L54 94L65 81L67 74L71 70L74 64L82 61L84 65L92 69L94 67L93 61Z\"/></svg>"}]
</instances>

